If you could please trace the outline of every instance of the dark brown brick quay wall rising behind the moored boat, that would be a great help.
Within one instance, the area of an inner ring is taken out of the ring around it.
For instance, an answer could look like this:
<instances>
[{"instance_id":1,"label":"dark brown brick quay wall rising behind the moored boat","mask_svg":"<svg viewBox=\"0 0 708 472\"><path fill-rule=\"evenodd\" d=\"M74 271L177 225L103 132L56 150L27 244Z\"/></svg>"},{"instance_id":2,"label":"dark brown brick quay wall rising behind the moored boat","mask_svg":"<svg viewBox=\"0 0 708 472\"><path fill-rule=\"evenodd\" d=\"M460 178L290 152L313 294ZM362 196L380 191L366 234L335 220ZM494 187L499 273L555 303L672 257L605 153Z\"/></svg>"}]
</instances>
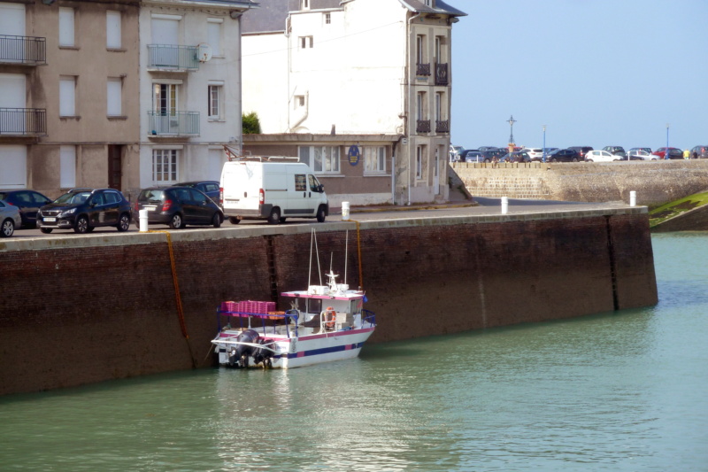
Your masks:
<instances>
[{"instance_id":1,"label":"dark brown brick quay wall rising behind the moored boat","mask_svg":"<svg viewBox=\"0 0 708 472\"><path fill-rule=\"evenodd\" d=\"M173 231L176 278L164 232L11 238L0 394L212 366L219 303L306 287L312 228L322 272L331 258L344 282L347 254L366 290L371 343L658 299L645 207Z\"/></svg>"}]
</instances>

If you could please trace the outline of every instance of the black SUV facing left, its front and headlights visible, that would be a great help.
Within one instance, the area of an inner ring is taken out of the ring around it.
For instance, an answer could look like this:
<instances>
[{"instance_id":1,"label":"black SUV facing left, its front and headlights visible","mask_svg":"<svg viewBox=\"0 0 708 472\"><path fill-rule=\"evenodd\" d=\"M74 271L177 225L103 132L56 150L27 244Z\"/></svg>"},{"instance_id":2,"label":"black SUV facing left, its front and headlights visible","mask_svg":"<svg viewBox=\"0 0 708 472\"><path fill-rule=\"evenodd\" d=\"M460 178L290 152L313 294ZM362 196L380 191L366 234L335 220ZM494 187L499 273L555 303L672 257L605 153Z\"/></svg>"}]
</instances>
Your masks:
<instances>
[{"instance_id":1,"label":"black SUV facing left, its front and headlights visible","mask_svg":"<svg viewBox=\"0 0 708 472\"><path fill-rule=\"evenodd\" d=\"M90 233L99 226L119 231L130 228L130 202L115 189L72 189L37 212L37 228L42 233L73 229Z\"/></svg>"}]
</instances>

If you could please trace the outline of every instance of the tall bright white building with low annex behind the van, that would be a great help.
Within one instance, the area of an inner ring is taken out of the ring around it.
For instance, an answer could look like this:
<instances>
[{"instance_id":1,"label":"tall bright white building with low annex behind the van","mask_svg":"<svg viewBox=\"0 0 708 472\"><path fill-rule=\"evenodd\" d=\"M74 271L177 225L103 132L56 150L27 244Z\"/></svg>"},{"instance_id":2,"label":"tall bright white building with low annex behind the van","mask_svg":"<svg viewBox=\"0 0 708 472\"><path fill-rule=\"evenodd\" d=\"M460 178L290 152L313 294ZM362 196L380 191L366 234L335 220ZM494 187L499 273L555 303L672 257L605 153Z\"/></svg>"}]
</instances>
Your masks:
<instances>
[{"instance_id":1,"label":"tall bright white building with low annex behind the van","mask_svg":"<svg viewBox=\"0 0 708 472\"><path fill-rule=\"evenodd\" d=\"M444 201L451 28L441 0L261 0L243 17L244 150L297 156L332 205Z\"/></svg>"}]
</instances>

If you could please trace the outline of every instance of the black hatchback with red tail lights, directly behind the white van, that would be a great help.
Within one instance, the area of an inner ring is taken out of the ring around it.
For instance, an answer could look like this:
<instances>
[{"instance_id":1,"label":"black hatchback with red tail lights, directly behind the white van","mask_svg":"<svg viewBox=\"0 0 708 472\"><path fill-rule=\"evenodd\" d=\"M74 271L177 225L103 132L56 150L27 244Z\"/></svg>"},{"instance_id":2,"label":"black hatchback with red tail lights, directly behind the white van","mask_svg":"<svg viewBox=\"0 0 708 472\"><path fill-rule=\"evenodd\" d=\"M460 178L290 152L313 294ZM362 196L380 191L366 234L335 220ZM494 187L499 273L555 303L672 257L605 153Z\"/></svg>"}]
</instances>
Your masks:
<instances>
[{"instance_id":1,"label":"black hatchback with red tail lights, directly behind the white van","mask_svg":"<svg viewBox=\"0 0 708 472\"><path fill-rule=\"evenodd\" d=\"M141 190L133 206L135 225L140 227L140 211L148 210L148 223L181 229L187 225L219 228L224 213L213 199L189 187L150 187Z\"/></svg>"}]
</instances>

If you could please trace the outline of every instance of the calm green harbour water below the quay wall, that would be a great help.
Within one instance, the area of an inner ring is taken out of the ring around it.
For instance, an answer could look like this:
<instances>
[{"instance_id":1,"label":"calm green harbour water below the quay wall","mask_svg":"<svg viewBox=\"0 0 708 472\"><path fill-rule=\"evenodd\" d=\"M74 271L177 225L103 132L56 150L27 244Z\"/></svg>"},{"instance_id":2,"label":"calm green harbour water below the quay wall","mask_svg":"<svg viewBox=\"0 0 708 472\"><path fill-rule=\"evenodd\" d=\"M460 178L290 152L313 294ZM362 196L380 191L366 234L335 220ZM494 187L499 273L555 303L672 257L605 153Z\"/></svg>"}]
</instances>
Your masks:
<instances>
[{"instance_id":1,"label":"calm green harbour water below the quay wall","mask_svg":"<svg viewBox=\"0 0 708 472\"><path fill-rule=\"evenodd\" d=\"M708 470L708 233L658 306L0 398L0 470Z\"/></svg>"}]
</instances>

